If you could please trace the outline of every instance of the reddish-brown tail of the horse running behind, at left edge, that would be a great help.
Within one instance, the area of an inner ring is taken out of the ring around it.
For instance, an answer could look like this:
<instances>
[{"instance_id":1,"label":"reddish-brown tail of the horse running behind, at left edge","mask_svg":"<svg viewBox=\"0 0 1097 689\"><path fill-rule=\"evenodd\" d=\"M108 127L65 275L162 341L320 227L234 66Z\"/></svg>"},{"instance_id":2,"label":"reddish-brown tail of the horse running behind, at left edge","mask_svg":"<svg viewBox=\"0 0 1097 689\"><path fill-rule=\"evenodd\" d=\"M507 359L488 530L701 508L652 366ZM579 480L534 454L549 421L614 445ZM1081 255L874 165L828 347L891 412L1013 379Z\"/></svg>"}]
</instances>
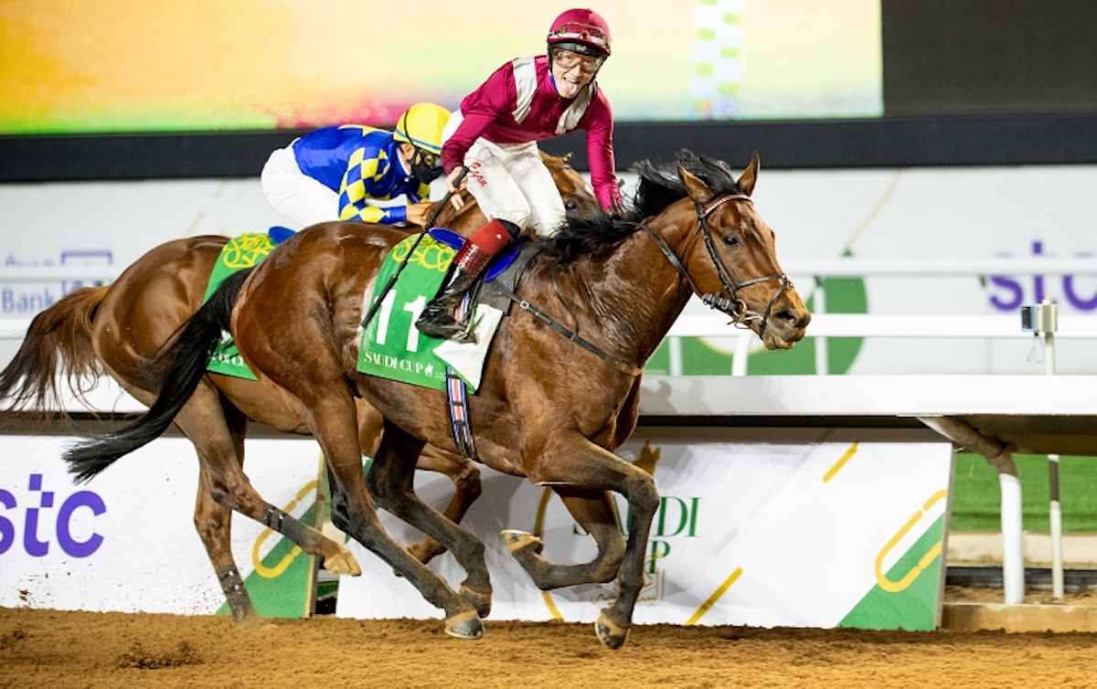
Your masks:
<instances>
[{"instance_id":1,"label":"reddish-brown tail of the horse running behind, at left edge","mask_svg":"<svg viewBox=\"0 0 1097 689\"><path fill-rule=\"evenodd\" d=\"M0 371L5 409L65 417L61 379L80 399L94 386L103 366L91 340L92 320L109 289L73 290L34 317L15 357Z\"/></svg>"}]
</instances>

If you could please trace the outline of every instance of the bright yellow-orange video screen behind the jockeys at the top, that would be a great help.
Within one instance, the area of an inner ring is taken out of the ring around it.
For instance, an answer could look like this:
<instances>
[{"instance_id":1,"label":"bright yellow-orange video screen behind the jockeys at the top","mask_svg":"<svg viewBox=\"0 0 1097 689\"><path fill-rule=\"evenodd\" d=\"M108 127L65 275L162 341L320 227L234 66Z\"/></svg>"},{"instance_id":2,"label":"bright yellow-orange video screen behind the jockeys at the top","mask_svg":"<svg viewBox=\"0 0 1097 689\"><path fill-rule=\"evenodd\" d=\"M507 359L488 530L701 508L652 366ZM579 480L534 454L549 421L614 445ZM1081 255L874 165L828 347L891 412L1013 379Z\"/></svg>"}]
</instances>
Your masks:
<instances>
[{"instance_id":1,"label":"bright yellow-orange video screen behind the jockeys at the top","mask_svg":"<svg viewBox=\"0 0 1097 689\"><path fill-rule=\"evenodd\" d=\"M472 7L471 7L472 5ZM0 3L0 135L263 131L455 109L569 2ZM879 0L601 0L619 121L883 113Z\"/></svg>"}]
</instances>

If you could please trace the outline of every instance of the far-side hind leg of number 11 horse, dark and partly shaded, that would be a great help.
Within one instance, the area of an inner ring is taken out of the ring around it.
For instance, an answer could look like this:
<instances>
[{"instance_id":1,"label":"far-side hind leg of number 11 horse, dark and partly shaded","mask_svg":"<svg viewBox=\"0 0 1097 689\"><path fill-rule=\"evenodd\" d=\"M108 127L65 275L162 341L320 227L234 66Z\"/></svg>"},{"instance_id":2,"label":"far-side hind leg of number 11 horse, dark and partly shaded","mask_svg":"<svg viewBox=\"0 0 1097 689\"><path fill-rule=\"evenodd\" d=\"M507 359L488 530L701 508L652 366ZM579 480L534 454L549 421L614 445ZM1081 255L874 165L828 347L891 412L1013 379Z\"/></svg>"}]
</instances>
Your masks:
<instances>
[{"instance_id":1,"label":"far-side hind leg of number 11 horse, dark and partly shaded","mask_svg":"<svg viewBox=\"0 0 1097 689\"><path fill-rule=\"evenodd\" d=\"M416 458L422 447L421 440L386 422L382 452L377 453L378 459L366 476L367 487L378 506L428 536L433 536L441 549L453 553L466 573L460 595L476 608L480 617L487 617L491 610L491 580L484 557L484 543L415 494Z\"/></svg>"}]
</instances>

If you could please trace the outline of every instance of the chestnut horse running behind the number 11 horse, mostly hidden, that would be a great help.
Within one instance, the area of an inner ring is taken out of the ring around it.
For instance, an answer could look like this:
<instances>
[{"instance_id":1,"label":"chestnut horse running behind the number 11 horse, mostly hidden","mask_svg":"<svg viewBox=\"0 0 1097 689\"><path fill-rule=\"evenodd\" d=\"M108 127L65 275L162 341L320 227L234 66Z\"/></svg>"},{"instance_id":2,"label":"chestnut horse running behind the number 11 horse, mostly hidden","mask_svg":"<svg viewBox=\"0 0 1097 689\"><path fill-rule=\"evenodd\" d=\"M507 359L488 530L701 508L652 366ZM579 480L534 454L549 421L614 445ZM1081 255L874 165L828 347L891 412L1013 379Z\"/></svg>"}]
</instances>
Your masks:
<instances>
[{"instance_id":1,"label":"chestnut horse running behind the number 11 horse, mostly hidden","mask_svg":"<svg viewBox=\"0 0 1097 689\"><path fill-rule=\"evenodd\" d=\"M568 158L542 154L565 210L569 215L597 212L597 200ZM467 235L486 222L471 197L460 212L448 203L439 211L438 224L459 234ZM0 372L0 399L9 408L46 411L61 398L63 377L79 396L87 384L106 373L138 402L154 404L163 376L157 359L202 305L214 263L228 240L202 236L168 241L127 267L111 285L76 290L39 313L16 355ZM362 399L357 416L362 453L373 456L383 419ZM268 526L278 521L274 526L295 534L298 545L307 544L307 552L323 555L328 571L360 573L342 544L267 504L242 472L249 419L285 432L308 433L305 418L301 403L270 379L257 382L217 373L207 373L173 417L200 460L195 528L233 618L241 625L258 624L260 619L231 555L234 509ZM479 468L460 454L427 445L417 467L442 473L453 482L454 494L443 512L448 519L460 521L480 494ZM428 562L444 549L428 535L408 551Z\"/></svg>"}]
</instances>

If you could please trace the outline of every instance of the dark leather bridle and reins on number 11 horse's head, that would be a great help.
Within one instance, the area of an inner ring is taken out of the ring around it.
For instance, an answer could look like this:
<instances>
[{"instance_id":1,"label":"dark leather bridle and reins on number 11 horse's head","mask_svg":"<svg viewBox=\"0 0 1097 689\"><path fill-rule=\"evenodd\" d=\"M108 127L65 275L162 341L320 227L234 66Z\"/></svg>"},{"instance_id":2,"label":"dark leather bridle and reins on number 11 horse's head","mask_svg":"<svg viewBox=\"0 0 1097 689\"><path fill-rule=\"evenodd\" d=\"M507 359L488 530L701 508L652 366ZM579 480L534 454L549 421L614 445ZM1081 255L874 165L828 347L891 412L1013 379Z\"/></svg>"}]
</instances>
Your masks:
<instances>
[{"instance_id":1,"label":"dark leather bridle and reins on number 11 horse's head","mask_svg":"<svg viewBox=\"0 0 1097 689\"><path fill-rule=\"evenodd\" d=\"M719 294L713 294L711 292L701 292L693 282L686 267L682 264L681 259L679 259L667 240L663 238L661 235L657 234L651 227L644 224L640 224L640 228L647 233L647 235L655 240L655 244L663 251L663 255L667 257L667 260L675 270L686 279L689 283L690 289L693 294L701 297L701 301L709 307L715 308L716 310L727 314L732 317L732 323L737 328L749 328L751 321L758 321L758 332L766 331L766 324L769 323L769 318L772 315L773 304L784 292L785 287L792 286L792 281L784 273L773 273L772 275L765 275L762 278L751 278L750 280L745 280L739 282L732 275L732 271L727 269L724 261L720 258L720 253L716 251L716 240L712 236L712 229L709 227L709 216L712 212L724 205L730 201L745 201L747 203L754 203L750 196L746 194L734 194L734 193L717 193L715 196L710 199L706 203L694 202L693 206L697 210L697 225L698 230L704 235L704 246L709 250L709 257L712 259L713 264L716 267L716 274L720 276L720 283L724 287L724 292L727 297L723 297ZM769 282L770 280L778 281L778 287L773 291L773 296L770 297L769 303L766 305L765 313L759 314L756 310L749 308L742 298L737 296L738 291L743 287L748 287L754 284L759 284L762 282Z\"/></svg>"}]
</instances>

